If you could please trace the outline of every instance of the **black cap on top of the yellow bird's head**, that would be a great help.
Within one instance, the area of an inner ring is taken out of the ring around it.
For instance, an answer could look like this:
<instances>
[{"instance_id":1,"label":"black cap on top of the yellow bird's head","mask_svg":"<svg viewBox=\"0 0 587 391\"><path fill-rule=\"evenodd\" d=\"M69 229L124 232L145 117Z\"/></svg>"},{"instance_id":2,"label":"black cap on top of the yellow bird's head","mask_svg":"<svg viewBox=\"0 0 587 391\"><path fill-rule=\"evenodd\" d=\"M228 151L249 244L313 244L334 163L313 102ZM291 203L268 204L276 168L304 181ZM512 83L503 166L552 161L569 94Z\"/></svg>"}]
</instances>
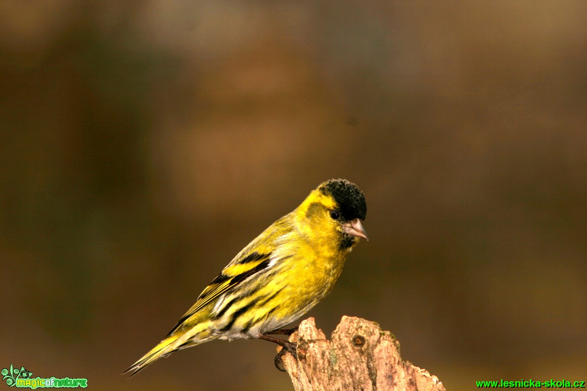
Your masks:
<instances>
[{"instance_id":1,"label":"black cap on top of the yellow bird's head","mask_svg":"<svg viewBox=\"0 0 587 391\"><path fill-rule=\"evenodd\" d=\"M357 188L355 183L346 179L330 179L322 183L319 190L322 194L334 198L345 220L353 220L357 217L365 220L367 216L365 194Z\"/></svg>"}]
</instances>

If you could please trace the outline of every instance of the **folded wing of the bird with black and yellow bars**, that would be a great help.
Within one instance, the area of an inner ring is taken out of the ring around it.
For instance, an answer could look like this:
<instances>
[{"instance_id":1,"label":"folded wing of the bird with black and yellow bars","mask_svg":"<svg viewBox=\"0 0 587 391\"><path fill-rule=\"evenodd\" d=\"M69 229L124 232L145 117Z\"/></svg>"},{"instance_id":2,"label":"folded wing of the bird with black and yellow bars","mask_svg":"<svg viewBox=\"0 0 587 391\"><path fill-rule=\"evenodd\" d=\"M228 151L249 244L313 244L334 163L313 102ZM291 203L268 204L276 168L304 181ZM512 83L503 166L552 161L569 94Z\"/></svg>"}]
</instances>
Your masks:
<instances>
[{"instance_id":1,"label":"folded wing of the bird with black and yellow bars","mask_svg":"<svg viewBox=\"0 0 587 391\"><path fill-rule=\"evenodd\" d=\"M173 332L176 331L186 319L190 318L191 315L203 308L204 305L235 287L241 283L241 281L245 280L245 278L264 270L269 266L270 261L271 252L263 251L259 253L258 251L252 251L246 255L239 254L237 258L232 260L231 263L222 270L222 273L218 274L218 276L208 284L200 294L200 297L198 297L195 304L190 310L185 312L183 317L177 322L176 327L169 332L168 336L173 334Z\"/></svg>"}]
</instances>

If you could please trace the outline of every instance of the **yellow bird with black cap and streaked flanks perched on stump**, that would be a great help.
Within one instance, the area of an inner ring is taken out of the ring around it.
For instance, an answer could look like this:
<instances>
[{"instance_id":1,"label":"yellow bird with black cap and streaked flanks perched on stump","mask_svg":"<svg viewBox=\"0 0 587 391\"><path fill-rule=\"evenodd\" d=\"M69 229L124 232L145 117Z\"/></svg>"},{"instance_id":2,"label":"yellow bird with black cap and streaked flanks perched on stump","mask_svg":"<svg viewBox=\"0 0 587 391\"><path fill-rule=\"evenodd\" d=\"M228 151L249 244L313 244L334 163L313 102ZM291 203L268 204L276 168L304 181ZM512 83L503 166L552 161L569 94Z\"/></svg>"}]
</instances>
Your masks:
<instances>
[{"instance_id":1,"label":"yellow bird with black cap and streaked flanks perched on stump","mask_svg":"<svg viewBox=\"0 0 587 391\"><path fill-rule=\"evenodd\" d=\"M124 370L136 375L161 357L213 339L265 339L282 346L295 343L272 337L306 314L335 285L360 238L369 240L362 221L365 194L346 179L330 179L314 189L292 212L276 220L228 263L195 304L153 349Z\"/></svg>"}]
</instances>

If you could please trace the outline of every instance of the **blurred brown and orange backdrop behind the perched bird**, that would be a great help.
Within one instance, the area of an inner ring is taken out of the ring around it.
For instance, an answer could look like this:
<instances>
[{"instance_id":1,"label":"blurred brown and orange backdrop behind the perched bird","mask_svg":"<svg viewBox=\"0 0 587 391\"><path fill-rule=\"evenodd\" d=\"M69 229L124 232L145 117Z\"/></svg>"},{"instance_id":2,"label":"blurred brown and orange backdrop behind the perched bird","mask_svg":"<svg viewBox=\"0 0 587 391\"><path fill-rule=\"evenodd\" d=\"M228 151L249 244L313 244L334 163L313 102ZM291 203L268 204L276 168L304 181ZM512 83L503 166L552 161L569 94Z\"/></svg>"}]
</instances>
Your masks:
<instances>
[{"instance_id":1,"label":"blurred brown and orange backdrop behind the perched bird","mask_svg":"<svg viewBox=\"0 0 587 391\"><path fill-rule=\"evenodd\" d=\"M447 389L587 380L587 3L3 1L0 368L283 390L275 346L120 376L318 183L370 241L308 314Z\"/></svg>"}]
</instances>

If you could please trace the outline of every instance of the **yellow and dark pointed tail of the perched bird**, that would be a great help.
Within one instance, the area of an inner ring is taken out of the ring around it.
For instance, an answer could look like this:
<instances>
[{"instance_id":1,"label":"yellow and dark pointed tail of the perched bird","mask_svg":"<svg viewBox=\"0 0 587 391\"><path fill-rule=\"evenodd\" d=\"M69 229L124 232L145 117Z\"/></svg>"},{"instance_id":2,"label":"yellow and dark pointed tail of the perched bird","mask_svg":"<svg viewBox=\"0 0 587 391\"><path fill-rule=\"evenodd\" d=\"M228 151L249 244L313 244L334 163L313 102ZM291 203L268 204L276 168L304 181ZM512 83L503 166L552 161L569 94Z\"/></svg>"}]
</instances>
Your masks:
<instances>
[{"instance_id":1,"label":"yellow and dark pointed tail of the perched bird","mask_svg":"<svg viewBox=\"0 0 587 391\"><path fill-rule=\"evenodd\" d=\"M200 345L203 342L210 341L210 332L208 331L209 322L196 324L193 327L185 329L177 329L167 338L159 342L157 346L151 349L146 355L141 357L139 361L129 366L123 373L131 372L130 376L134 376L147 365L157 361L161 357L166 357L178 349L187 348L188 346Z\"/></svg>"}]
</instances>

